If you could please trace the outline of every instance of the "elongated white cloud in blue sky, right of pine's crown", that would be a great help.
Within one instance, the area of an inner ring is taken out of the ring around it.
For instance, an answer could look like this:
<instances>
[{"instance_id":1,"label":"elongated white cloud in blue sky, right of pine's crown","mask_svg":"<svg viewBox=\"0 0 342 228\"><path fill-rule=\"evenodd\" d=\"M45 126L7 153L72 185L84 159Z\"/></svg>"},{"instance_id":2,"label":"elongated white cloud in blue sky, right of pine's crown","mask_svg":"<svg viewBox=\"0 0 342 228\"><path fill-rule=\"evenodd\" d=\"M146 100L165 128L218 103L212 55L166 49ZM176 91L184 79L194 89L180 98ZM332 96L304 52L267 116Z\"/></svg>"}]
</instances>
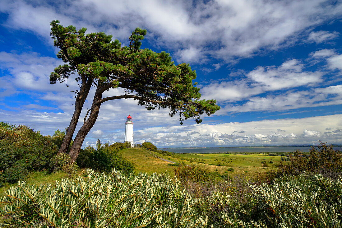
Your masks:
<instances>
[{"instance_id":1,"label":"elongated white cloud in blue sky, right of pine's crown","mask_svg":"<svg viewBox=\"0 0 342 228\"><path fill-rule=\"evenodd\" d=\"M304 71L304 64L297 59L292 59L282 63L280 66L258 66L253 71L239 74L239 80L228 81L231 80L231 78L228 78L221 80L221 82L212 81L206 86L200 85L199 87L205 99L216 99L219 102L226 103L249 98L253 105L256 104L255 102L259 102L259 106L262 108L272 96L267 98L253 96L266 91L314 86L322 81L323 75L323 72L320 71ZM280 96L288 97L289 95L282 94ZM291 94L290 96L292 98L287 99L289 102L285 103L298 100L295 97L300 96L300 94ZM279 102L281 101L279 100ZM269 105L266 105L265 110L268 107Z\"/></svg>"}]
</instances>

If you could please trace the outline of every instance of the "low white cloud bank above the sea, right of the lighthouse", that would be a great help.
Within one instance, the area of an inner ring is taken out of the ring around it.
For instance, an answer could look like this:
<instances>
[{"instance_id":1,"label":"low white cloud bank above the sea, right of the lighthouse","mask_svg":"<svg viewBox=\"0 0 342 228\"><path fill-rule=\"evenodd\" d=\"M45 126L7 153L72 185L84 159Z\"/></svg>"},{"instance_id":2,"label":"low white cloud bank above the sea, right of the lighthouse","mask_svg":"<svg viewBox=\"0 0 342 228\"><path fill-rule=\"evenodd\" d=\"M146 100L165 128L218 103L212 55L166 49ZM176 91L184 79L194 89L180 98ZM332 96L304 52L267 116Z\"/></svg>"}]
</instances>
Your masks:
<instances>
[{"instance_id":1,"label":"low white cloud bank above the sea, right of the lighthouse","mask_svg":"<svg viewBox=\"0 0 342 228\"><path fill-rule=\"evenodd\" d=\"M267 144L313 144L319 141L341 143L342 131L326 131L325 128L341 128L342 114L233 122L144 128L135 132L136 141L151 141L159 147L209 146L209 145L267 145ZM277 129L289 132L280 134ZM310 130L308 130L310 129ZM234 133L234 132L242 132Z\"/></svg>"}]
</instances>

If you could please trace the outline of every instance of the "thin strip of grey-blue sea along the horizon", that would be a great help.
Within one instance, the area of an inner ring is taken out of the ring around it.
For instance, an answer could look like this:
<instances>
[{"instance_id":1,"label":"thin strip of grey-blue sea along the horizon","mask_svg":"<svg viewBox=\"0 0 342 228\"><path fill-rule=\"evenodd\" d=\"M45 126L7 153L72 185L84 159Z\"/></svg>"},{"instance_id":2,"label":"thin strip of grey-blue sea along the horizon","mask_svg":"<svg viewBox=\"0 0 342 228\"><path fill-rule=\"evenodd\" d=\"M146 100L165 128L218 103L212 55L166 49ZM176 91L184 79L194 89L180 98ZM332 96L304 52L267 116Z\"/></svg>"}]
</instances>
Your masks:
<instances>
[{"instance_id":1,"label":"thin strip of grey-blue sea along the horizon","mask_svg":"<svg viewBox=\"0 0 342 228\"><path fill-rule=\"evenodd\" d=\"M293 146L293 147L184 147L184 148L158 148L173 153L263 153L263 152L293 152L300 150L309 152L311 146ZM317 148L318 149L318 148ZM333 147L334 150L342 151L342 146Z\"/></svg>"}]
</instances>

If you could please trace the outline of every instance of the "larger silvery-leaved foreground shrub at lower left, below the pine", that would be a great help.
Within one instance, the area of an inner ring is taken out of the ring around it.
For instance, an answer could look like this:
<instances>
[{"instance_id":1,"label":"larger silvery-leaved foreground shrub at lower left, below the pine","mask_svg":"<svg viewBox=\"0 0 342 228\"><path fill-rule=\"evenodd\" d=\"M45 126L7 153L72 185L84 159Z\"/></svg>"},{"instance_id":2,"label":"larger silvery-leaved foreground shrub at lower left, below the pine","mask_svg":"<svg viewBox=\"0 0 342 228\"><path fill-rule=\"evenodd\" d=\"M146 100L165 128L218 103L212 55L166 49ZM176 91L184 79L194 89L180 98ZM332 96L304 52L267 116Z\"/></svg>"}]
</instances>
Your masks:
<instances>
[{"instance_id":1,"label":"larger silvery-leaved foreground shrub at lower left, below the pine","mask_svg":"<svg viewBox=\"0 0 342 228\"><path fill-rule=\"evenodd\" d=\"M88 170L88 180L20 181L2 199L2 227L207 227L202 202L166 174L124 176Z\"/></svg>"}]
</instances>

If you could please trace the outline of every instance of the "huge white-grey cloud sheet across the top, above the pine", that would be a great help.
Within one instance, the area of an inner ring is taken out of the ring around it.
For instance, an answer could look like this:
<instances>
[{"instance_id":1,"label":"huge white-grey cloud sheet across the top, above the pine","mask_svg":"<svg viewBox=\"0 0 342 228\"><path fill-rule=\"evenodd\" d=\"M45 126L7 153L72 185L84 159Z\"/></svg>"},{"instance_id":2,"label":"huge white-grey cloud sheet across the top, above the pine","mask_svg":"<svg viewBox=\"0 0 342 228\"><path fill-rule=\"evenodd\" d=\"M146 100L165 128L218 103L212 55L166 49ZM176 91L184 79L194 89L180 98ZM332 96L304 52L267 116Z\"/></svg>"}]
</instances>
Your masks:
<instances>
[{"instance_id":1,"label":"huge white-grey cloud sheet across the top, above the pine","mask_svg":"<svg viewBox=\"0 0 342 228\"><path fill-rule=\"evenodd\" d=\"M4 2L0 11L8 14L4 25L29 29L47 39L53 19L60 19L64 25L85 26L89 31L105 31L123 43L139 26L148 29L150 43L177 52L177 61L201 61L211 56L231 62L235 57L253 56L260 49L275 50L296 43L298 37L307 35L307 28L341 16L342 3L81 0L66 1L62 7L15 1ZM319 31L309 36L320 42L336 33Z\"/></svg>"}]
</instances>

